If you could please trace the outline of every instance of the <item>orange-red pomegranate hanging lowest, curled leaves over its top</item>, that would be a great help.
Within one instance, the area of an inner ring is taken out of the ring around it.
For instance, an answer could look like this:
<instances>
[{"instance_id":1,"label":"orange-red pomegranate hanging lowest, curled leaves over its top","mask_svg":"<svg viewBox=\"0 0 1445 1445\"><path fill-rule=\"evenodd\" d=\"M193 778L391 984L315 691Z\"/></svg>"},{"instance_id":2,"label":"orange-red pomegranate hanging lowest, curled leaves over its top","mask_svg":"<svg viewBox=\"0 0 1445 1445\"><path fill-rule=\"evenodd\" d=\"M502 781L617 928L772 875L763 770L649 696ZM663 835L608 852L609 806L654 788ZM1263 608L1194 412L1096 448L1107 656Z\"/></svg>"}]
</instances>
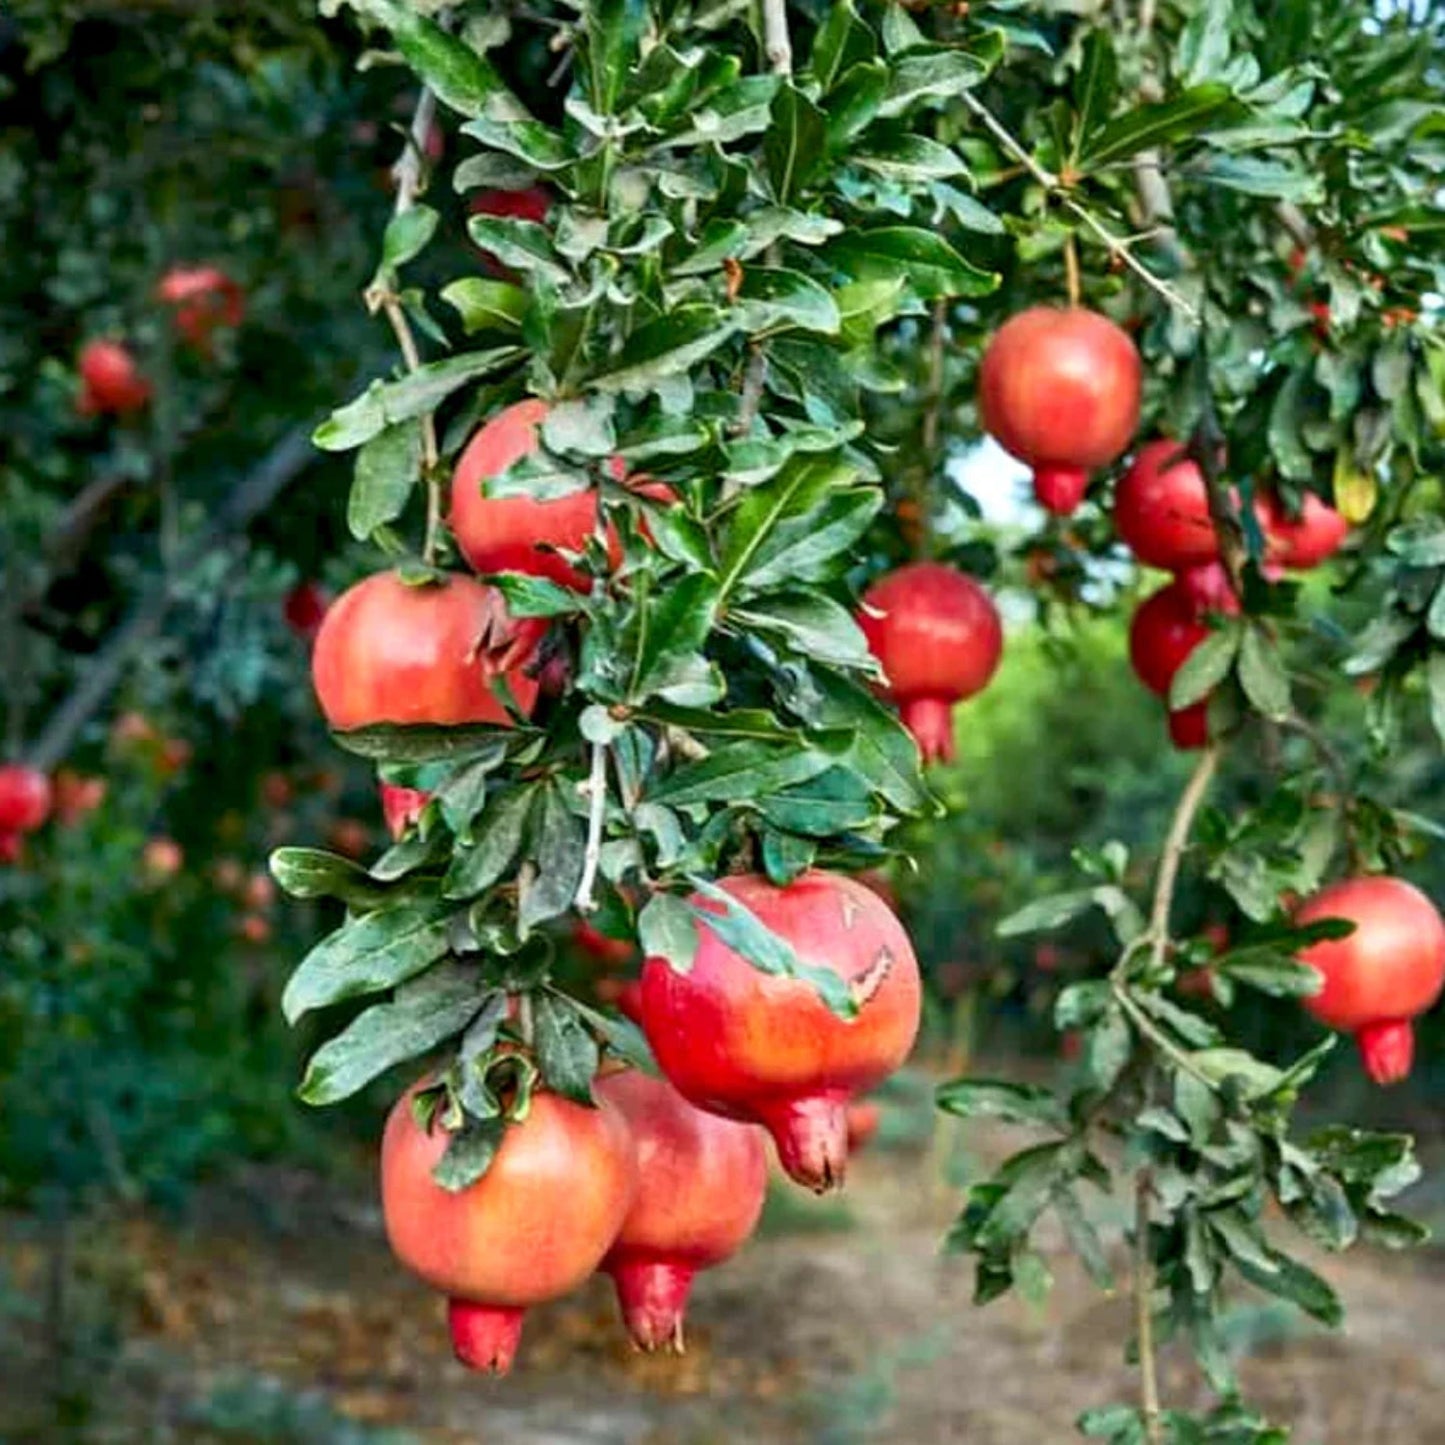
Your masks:
<instances>
[{"instance_id":1,"label":"orange-red pomegranate hanging lowest, curled leaves over its top","mask_svg":"<svg viewBox=\"0 0 1445 1445\"><path fill-rule=\"evenodd\" d=\"M381 1211L396 1257L448 1298L457 1358L506 1374L530 1305L575 1289L617 1238L637 1191L636 1147L605 1098L585 1108L533 1094L474 1185L449 1194L432 1166L447 1133L416 1121L413 1087L386 1121Z\"/></svg>"}]
</instances>

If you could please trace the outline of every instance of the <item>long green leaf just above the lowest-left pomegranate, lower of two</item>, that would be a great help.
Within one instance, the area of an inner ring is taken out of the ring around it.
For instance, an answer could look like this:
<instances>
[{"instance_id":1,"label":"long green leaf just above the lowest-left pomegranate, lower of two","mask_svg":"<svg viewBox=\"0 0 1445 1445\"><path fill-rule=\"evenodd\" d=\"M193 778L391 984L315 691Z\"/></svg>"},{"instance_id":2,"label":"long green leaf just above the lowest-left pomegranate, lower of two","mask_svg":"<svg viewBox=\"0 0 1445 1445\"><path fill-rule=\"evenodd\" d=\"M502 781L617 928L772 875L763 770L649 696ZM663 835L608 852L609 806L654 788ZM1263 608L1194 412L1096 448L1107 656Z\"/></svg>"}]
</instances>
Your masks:
<instances>
[{"instance_id":1,"label":"long green leaf just above the lowest-left pomegranate, lower of two","mask_svg":"<svg viewBox=\"0 0 1445 1445\"><path fill-rule=\"evenodd\" d=\"M475 968L439 964L402 984L392 1003L373 1004L306 1065L298 1094L308 1104L337 1104L374 1078L461 1033L481 1007Z\"/></svg>"}]
</instances>

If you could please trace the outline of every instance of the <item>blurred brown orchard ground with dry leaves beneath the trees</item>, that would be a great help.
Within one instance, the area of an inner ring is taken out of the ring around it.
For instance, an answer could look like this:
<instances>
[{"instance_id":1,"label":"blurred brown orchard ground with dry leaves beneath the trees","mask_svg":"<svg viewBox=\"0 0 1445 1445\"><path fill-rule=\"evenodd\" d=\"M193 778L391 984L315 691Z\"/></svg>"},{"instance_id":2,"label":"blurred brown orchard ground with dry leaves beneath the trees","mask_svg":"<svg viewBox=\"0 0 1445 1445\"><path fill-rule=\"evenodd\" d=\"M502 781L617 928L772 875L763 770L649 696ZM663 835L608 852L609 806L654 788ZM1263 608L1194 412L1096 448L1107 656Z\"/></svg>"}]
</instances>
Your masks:
<instances>
[{"instance_id":1,"label":"blurred brown orchard ground with dry leaves beneath the trees","mask_svg":"<svg viewBox=\"0 0 1445 1445\"><path fill-rule=\"evenodd\" d=\"M1012 1061L1010 1061L1012 1062ZM611 1289L529 1316L519 1367L486 1381L454 1364L435 1298L390 1257L367 1165L331 1178L247 1166L201 1189L184 1218L118 1214L75 1241L75 1433L46 1435L53 1384L42 1332L0 1353L0 1439L87 1445L285 1441L306 1445L722 1445L1068 1439L1075 1415L1127 1396L1117 1341L1129 1302L1100 1299L1064 1241L1056 1285L1032 1306L971 1303L971 1266L939 1253L959 1183L1023 1139L942 1120L909 1142L890 1108L881 1146L851 1166L842 1201L776 1182L762 1237L695 1289L683 1358L624 1344ZM890 1144L890 1136L893 1139ZM1425 1144L1445 1163L1445 1140ZM1445 1201L1418 1192L1426 1215ZM1118 1250L1123 1211L1101 1222ZM38 1318L35 1221L0 1231L0 1280ZM1315 1259L1340 1287L1340 1334L1237 1295L1225 1335L1244 1386L1295 1422L1302 1445L1439 1445L1438 1338L1445 1254ZM16 1311L12 1319L25 1321ZM17 1348L19 1345L19 1348ZM84 1383L77 1380L85 1376ZM1195 1376L1166 1354L1170 1397ZM1202 1403L1202 1399L1196 1403ZM85 1418L88 1415L88 1418Z\"/></svg>"}]
</instances>

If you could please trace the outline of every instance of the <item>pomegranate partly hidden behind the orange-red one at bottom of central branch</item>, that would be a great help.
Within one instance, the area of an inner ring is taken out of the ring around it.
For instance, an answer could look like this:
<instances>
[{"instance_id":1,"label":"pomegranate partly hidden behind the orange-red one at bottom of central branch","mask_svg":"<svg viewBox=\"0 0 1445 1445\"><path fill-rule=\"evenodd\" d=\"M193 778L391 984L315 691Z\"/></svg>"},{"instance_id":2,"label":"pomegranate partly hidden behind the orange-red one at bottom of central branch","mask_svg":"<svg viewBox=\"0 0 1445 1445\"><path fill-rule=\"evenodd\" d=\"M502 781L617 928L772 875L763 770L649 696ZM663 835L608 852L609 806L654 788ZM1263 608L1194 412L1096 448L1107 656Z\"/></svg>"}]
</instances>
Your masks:
<instances>
[{"instance_id":1,"label":"pomegranate partly hidden behind the orange-red one at bottom of central branch","mask_svg":"<svg viewBox=\"0 0 1445 1445\"><path fill-rule=\"evenodd\" d=\"M636 1069L600 1078L595 1094L616 1105L637 1146L637 1194L601 1267L633 1342L681 1353L692 1277L736 1254L763 1212L764 1136Z\"/></svg>"}]
</instances>

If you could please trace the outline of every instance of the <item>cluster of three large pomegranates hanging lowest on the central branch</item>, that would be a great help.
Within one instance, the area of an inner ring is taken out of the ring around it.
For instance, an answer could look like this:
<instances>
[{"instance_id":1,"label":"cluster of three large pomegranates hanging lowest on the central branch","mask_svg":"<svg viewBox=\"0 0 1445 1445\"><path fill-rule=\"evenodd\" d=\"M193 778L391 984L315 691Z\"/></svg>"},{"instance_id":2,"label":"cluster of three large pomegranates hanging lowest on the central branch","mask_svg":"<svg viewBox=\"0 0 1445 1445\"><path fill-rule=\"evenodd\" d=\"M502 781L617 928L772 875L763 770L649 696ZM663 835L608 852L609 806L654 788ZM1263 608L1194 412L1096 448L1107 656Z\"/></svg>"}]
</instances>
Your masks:
<instances>
[{"instance_id":1,"label":"cluster of three large pomegranates hanging lowest on the central branch","mask_svg":"<svg viewBox=\"0 0 1445 1445\"><path fill-rule=\"evenodd\" d=\"M902 1064L919 1023L918 964L897 918L864 884L822 871L721 887L805 964L841 978L855 1016L831 1012L808 981L762 972L704 925L686 974L643 964L640 1023L663 1078L604 1071L595 1108L535 1094L487 1173L460 1192L432 1178L448 1137L419 1117L416 1090L393 1108L387 1235L447 1295L462 1363L504 1373L527 1306L598 1269L640 1348L681 1347L694 1276L757 1222L764 1130L786 1172L822 1191L841 1183L850 1139L857 1147L877 1127L876 1113L850 1120L850 1100ZM692 903L722 912L709 897Z\"/></svg>"}]
</instances>

